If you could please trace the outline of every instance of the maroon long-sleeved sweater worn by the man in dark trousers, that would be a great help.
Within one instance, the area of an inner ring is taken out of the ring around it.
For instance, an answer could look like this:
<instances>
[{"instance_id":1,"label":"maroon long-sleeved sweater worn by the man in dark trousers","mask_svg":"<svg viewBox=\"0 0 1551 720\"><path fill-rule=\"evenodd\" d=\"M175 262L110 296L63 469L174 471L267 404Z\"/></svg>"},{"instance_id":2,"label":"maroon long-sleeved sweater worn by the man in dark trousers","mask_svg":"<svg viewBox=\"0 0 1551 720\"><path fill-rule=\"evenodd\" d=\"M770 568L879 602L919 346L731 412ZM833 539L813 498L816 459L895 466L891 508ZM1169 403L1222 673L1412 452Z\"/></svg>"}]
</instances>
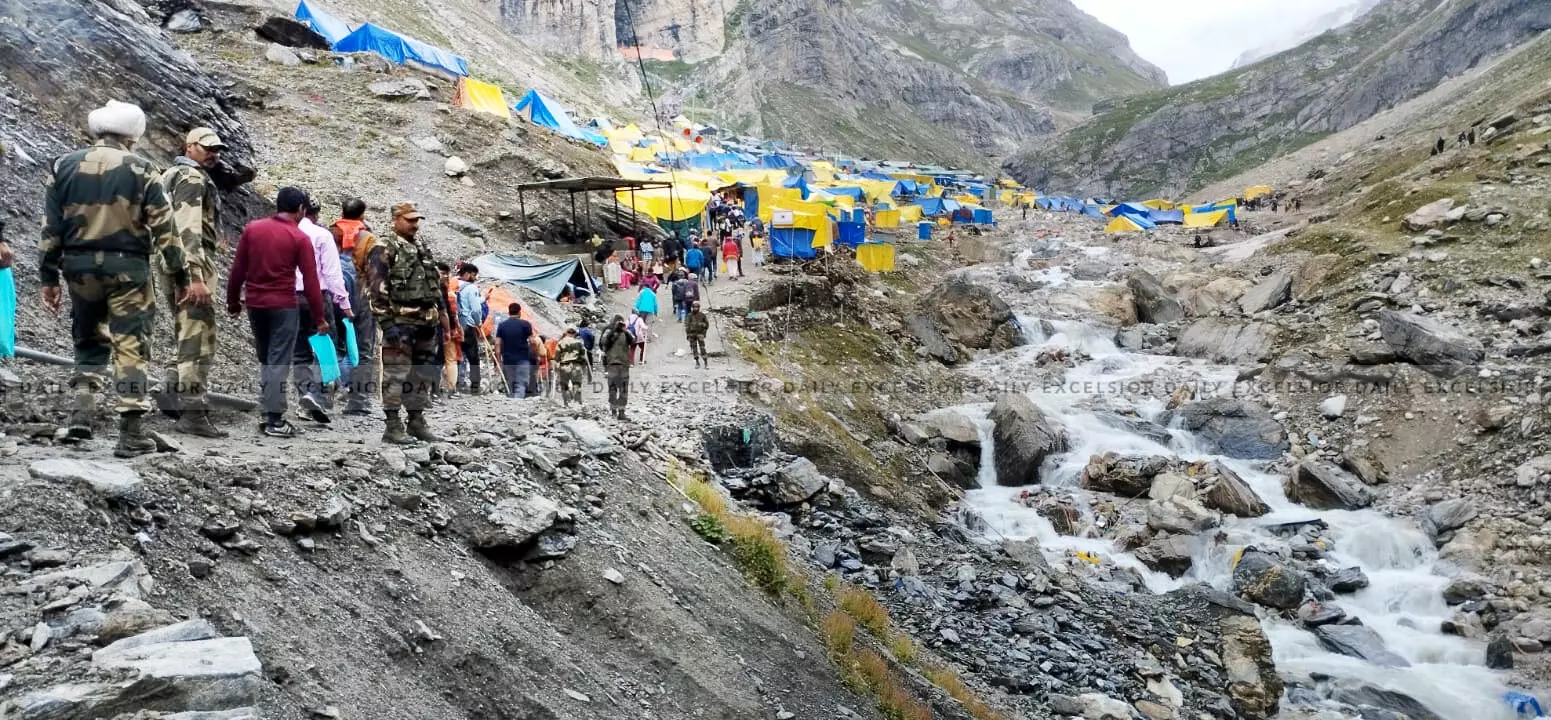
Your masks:
<instances>
[{"instance_id":1,"label":"maroon long-sleeved sweater worn by the man in dark trousers","mask_svg":"<svg viewBox=\"0 0 1551 720\"><path fill-rule=\"evenodd\" d=\"M261 310L296 307L296 270L312 310L312 324L323 324L323 293L318 289L318 262L312 242L295 220L281 216L253 220L242 228L237 256L226 279L226 310L236 313L244 301ZM244 296L244 287L247 296Z\"/></svg>"}]
</instances>

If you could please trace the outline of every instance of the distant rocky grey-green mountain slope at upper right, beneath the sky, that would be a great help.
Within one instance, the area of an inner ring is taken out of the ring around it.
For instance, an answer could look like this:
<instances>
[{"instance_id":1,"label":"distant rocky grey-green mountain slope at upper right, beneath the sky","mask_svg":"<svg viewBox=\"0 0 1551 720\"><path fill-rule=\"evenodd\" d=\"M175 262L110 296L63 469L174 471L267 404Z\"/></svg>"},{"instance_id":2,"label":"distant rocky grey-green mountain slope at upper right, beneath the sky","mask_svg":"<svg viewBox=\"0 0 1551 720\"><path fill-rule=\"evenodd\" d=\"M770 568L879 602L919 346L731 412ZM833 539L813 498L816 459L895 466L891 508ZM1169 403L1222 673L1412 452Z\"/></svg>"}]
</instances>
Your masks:
<instances>
[{"instance_id":1,"label":"distant rocky grey-green mountain slope at upper right, beneath the sky","mask_svg":"<svg viewBox=\"0 0 1551 720\"><path fill-rule=\"evenodd\" d=\"M1179 196L1351 127L1551 28L1532 0L1388 0L1247 68L1128 98L1008 160L1052 191Z\"/></svg>"}]
</instances>

